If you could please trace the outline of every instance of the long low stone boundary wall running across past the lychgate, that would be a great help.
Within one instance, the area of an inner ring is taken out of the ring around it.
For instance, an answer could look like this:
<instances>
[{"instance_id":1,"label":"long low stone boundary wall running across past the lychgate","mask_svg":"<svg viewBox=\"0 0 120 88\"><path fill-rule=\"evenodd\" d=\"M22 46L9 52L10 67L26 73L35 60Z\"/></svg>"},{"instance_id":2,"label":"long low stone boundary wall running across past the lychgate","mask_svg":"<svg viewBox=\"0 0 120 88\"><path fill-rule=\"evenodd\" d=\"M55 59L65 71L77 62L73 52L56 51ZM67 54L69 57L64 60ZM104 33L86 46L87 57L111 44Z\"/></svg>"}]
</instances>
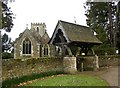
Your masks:
<instances>
[{"instance_id":1,"label":"long low stone boundary wall running across past the lychgate","mask_svg":"<svg viewBox=\"0 0 120 88\"><path fill-rule=\"evenodd\" d=\"M72 61L72 62L69 62ZM69 63L68 63L69 62ZM47 71L81 71L79 59L75 62L71 58L31 58L31 59L3 59L2 60L2 80L8 78L21 77L32 73ZM87 57L83 61L83 71L94 70L94 57ZM74 66L76 64L76 66ZM69 69L66 69L67 67ZM120 66L120 56L99 56L99 67ZM66 68L65 68L66 67ZM77 69L75 69L77 67ZM92 68L92 69L91 69Z\"/></svg>"}]
</instances>

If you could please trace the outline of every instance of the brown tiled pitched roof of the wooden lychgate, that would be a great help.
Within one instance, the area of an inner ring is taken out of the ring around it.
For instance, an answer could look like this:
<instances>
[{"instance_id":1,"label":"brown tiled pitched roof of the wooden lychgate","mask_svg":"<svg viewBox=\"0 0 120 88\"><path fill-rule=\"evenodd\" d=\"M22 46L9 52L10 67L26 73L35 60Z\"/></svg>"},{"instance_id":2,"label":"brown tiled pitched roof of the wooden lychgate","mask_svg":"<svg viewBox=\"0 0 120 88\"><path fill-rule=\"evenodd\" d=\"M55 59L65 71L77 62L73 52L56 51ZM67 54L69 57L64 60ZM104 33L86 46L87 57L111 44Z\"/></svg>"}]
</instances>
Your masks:
<instances>
[{"instance_id":1,"label":"brown tiled pitched roof of the wooden lychgate","mask_svg":"<svg viewBox=\"0 0 120 88\"><path fill-rule=\"evenodd\" d=\"M61 25L62 31L64 32L66 39L69 42L82 42L82 43L93 43L93 44L100 44L102 43L93 33L92 30L90 30L89 27L74 24L74 23L69 23L65 21L58 21L58 25ZM57 31L57 26L55 28L55 31ZM53 33L53 36L55 35L55 31ZM52 36L52 38L54 38ZM52 39L51 40L54 40ZM50 40L50 41L51 41ZM49 42L50 42L49 41Z\"/></svg>"}]
</instances>

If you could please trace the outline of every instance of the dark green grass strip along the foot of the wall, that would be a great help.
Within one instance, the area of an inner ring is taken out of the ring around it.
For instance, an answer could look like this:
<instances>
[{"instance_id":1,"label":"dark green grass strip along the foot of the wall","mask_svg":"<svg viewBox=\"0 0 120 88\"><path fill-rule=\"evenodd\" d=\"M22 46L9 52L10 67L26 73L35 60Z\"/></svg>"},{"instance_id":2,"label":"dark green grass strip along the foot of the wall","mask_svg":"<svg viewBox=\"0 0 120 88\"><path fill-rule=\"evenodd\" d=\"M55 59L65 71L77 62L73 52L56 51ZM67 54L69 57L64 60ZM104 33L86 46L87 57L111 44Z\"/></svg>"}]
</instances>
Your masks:
<instances>
[{"instance_id":1,"label":"dark green grass strip along the foot of the wall","mask_svg":"<svg viewBox=\"0 0 120 88\"><path fill-rule=\"evenodd\" d=\"M33 73L31 75L22 76L19 78L7 79L7 80L2 82L2 88L13 88L22 82L27 82L29 80L35 80L38 78L43 78L43 77L58 75L58 74L63 74L63 72L61 72L61 71L49 71L49 72L43 72L43 73L39 73L39 74Z\"/></svg>"}]
</instances>

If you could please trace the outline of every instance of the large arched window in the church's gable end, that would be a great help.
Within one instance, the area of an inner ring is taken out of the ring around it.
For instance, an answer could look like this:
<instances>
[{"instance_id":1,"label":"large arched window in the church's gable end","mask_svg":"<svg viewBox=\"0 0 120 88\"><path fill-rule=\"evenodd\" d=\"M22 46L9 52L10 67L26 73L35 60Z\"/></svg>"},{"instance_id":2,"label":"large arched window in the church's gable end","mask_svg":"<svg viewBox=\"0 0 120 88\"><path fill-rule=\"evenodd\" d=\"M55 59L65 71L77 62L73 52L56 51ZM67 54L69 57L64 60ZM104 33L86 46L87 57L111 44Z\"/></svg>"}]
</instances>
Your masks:
<instances>
[{"instance_id":1,"label":"large arched window in the church's gable end","mask_svg":"<svg viewBox=\"0 0 120 88\"><path fill-rule=\"evenodd\" d=\"M23 41L23 54L31 54L31 41L26 38Z\"/></svg>"}]
</instances>

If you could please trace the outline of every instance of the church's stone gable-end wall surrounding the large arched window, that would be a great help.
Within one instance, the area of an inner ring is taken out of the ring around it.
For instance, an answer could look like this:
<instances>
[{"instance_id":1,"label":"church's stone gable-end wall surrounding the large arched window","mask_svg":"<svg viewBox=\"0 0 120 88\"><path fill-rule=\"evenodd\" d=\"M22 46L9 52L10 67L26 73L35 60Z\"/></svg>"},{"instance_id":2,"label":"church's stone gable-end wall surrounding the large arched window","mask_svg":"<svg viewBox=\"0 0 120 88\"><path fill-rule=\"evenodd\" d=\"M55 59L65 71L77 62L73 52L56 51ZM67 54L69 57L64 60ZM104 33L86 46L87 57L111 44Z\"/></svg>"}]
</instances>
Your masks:
<instances>
[{"instance_id":1,"label":"church's stone gable-end wall surrounding the large arched window","mask_svg":"<svg viewBox=\"0 0 120 88\"><path fill-rule=\"evenodd\" d=\"M31 55L23 55L23 41L28 38L31 41ZM14 59L22 59L22 58L39 58L39 51L38 51L39 43L33 38L30 34L30 30L26 29L19 38L16 39L14 43Z\"/></svg>"}]
</instances>

